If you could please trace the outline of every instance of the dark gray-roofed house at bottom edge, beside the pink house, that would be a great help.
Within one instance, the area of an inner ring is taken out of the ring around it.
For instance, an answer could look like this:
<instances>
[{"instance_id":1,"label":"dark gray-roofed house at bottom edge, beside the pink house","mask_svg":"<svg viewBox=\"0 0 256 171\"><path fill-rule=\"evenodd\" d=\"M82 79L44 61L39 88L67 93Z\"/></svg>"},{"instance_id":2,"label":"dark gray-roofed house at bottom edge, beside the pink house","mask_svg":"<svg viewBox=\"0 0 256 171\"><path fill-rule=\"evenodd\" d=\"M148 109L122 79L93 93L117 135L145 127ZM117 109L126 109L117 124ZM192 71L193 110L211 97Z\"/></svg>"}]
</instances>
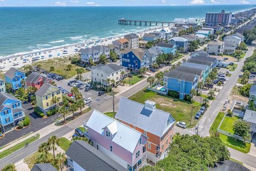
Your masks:
<instances>
[{"instance_id":1,"label":"dark gray-roofed house at bottom edge, beside the pink house","mask_svg":"<svg viewBox=\"0 0 256 171\"><path fill-rule=\"evenodd\" d=\"M74 141L66 151L70 170L125 171L123 166L86 141Z\"/></svg>"}]
</instances>

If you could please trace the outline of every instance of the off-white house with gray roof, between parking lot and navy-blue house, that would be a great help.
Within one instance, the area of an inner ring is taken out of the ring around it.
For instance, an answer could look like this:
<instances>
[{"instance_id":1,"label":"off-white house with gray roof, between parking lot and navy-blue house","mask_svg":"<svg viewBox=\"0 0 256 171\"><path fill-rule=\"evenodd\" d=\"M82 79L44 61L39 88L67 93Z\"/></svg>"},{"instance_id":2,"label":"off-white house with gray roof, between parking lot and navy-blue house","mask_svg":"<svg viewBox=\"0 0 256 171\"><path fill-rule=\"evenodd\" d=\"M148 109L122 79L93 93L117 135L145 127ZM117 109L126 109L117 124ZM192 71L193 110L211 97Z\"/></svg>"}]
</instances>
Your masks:
<instances>
[{"instance_id":1,"label":"off-white house with gray roof, between parking lot and navy-blue house","mask_svg":"<svg viewBox=\"0 0 256 171\"><path fill-rule=\"evenodd\" d=\"M100 82L103 86L109 86L111 82L108 80L114 80L119 82L125 73L125 67L116 64L99 64L91 68L92 82Z\"/></svg>"}]
</instances>

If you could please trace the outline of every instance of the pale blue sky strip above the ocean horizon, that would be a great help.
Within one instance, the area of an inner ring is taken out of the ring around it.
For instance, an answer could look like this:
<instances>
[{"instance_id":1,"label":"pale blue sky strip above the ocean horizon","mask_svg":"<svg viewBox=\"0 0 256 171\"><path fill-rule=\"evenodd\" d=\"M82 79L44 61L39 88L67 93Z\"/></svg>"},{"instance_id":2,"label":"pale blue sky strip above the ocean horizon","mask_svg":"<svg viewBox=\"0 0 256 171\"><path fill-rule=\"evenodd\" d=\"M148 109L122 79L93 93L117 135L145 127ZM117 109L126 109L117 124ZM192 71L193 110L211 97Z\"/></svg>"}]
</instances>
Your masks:
<instances>
[{"instance_id":1,"label":"pale blue sky strip above the ocean horizon","mask_svg":"<svg viewBox=\"0 0 256 171\"><path fill-rule=\"evenodd\" d=\"M155 6L256 4L255 0L0 0L0 6Z\"/></svg>"}]
</instances>

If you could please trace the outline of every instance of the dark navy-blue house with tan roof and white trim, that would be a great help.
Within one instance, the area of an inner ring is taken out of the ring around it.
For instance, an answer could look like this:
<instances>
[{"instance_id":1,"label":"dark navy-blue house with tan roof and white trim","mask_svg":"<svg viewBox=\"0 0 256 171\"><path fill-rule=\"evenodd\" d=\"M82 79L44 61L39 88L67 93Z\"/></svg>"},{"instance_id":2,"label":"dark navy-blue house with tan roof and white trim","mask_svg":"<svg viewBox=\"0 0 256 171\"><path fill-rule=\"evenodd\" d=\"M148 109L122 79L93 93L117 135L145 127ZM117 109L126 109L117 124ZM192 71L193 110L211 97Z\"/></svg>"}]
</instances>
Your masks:
<instances>
[{"instance_id":1,"label":"dark navy-blue house with tan roof and white trim","mask_svg":"<svg viewBox=\"0 0 256 171\"><path fill-rule=\"evenodd\" d=\"M141 48L122 50L120 56L121 65L130 70L139 70L140 68L149 68L150 57Z\"/></svg>"}]
</instances>

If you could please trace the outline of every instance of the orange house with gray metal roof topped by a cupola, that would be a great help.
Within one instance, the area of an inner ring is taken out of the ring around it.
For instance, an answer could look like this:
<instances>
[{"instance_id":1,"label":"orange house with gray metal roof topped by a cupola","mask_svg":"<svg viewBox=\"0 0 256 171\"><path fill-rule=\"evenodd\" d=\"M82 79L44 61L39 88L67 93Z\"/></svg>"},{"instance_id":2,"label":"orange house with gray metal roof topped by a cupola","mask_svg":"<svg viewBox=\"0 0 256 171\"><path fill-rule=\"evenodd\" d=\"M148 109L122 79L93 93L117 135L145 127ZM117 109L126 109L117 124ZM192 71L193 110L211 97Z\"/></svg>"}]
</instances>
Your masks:
<instances>
[{"instance_id":1,"label":"orange house with gray metal roof topped by a cupola","mask_svg":"<svg viewBox=\"0 0 256 171\"><path fill-rule=\"evenodd\" d=\"M156 163L167 156L168 144L172 142L174 133L175 119L170 113L157 109L156 102L146 100L145 104L140 104L122 97L115 119L148 137L148 160Z\"/></svg>"}]
</instances>

